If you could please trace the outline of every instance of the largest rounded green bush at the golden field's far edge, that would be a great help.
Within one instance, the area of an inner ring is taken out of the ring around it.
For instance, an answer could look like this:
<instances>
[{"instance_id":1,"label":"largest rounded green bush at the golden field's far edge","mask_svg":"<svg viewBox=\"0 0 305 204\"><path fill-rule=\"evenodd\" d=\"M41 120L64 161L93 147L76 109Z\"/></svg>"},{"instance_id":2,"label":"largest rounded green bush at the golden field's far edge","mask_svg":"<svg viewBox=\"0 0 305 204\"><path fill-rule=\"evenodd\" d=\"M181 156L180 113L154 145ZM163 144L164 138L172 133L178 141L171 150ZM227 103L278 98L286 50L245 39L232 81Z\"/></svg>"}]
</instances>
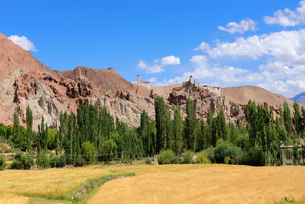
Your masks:
<instances>
[{"instance_id":1,"label":"largest rounded green bush at the golden field's far edge","mask_svg":"<svg viewBox=\"0 0 305 204\"><path fill-rule=\"evenodd\" d=\"M224 164L226 157L230 158L229 160L228 158L226 159L229 164L237 164L242 153L240 147L234 146L228 141L222 141L215 147L214 157L219 164Z\"/></svg>"}]
</instances>

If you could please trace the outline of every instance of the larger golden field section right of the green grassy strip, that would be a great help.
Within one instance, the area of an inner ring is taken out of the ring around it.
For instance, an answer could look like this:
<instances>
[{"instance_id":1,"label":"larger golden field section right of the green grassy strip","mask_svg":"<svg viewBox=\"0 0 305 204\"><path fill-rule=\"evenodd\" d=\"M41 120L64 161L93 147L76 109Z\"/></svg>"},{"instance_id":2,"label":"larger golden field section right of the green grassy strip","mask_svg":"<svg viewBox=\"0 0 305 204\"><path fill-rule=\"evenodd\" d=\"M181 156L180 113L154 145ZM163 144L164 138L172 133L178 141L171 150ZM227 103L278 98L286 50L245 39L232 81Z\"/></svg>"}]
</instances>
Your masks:
<instances>
[{"instance_id":1,"label":"larger golden field section right of the green grassy strip","mask_svg":"<svg viewBox=\"0 0 305 204\"><path fill-rule=\"evenodd\" d=\"M160 165L120 169L137 176L107 182L88 203L274 203L285 196L305 197L304 167Z\"/></svg>"}]
</instances>

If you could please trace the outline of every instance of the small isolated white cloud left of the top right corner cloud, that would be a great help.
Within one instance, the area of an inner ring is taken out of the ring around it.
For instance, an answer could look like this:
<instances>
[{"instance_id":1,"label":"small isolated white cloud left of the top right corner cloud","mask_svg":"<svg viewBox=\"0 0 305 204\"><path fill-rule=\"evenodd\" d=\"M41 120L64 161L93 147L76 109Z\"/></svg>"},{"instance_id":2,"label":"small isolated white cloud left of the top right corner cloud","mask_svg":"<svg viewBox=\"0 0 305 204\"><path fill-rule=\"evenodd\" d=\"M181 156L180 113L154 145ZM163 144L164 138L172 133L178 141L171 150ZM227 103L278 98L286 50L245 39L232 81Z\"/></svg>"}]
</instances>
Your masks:
<instances>
[{"instance_id":1,"label":"small isolated white cloud left of the top right corner cloud","mask_svg":"<svg viewBox=\"0 0 305 204\"><path fill-rule=\"evenodd\" d=\"M218 29L222 31L226 31L228 33L245 33L246 31L255 31L256 30L256 22L251 20L250 18L243 19L239 23L237 22L229 22L225 27L219 26Z\"/></svg>"}]
</instances>

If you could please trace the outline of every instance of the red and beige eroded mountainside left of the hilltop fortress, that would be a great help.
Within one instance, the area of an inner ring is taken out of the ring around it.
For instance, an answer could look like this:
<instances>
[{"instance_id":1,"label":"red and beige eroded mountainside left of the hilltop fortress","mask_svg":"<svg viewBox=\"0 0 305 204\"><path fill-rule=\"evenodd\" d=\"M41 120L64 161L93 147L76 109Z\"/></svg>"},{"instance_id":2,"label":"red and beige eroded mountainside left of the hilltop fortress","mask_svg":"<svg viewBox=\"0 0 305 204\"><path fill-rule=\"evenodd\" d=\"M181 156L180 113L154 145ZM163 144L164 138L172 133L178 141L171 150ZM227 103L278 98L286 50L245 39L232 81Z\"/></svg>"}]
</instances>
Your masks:
<instances>
[{"instance_id":1,"label":"red and beige eroded mountainside left of the hilltop fortress","mask_svg":"<svg viewBox=\"0 0 305 204\"><path fill-rule=\"evenodd\" d=\"M11 40L0 34L0 122L12 124L15 107L21 125L26 108L33 111L33 128L43 116L51 127L58 127L60 112L77 112L80 103L106 106L114 117L129 126L138 126L145 109L151 118L153 100L128 91L133 84L109 69L77 67L72 71L53 71Z\"/></svg>"}]
</instances>

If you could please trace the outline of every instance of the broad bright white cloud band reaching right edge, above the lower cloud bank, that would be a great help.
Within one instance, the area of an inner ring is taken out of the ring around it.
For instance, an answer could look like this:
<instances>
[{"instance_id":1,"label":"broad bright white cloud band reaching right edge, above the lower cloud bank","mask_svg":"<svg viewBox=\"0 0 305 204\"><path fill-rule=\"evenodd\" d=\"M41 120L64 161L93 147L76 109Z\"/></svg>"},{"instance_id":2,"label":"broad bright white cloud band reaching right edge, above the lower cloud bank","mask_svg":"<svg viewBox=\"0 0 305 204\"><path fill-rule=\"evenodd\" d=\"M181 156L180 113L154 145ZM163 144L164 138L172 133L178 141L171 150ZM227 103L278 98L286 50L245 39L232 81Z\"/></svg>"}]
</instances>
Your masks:
<instances>
[{"instance_id":1,"label":"broad bright white cloud band reaching right edge, above the lower cloud bank","mask_svg":"<svg viewBox=\"0 0 305 204\"><path fill-rule=\"evenodd\" d=\"M215 59L229 56L257 60L268 56L288 66L301 65L305 64L305 29L239 37L233 42L217 42L214 47L203 49L203 52Z\"/></svg>"}]
</instances>

